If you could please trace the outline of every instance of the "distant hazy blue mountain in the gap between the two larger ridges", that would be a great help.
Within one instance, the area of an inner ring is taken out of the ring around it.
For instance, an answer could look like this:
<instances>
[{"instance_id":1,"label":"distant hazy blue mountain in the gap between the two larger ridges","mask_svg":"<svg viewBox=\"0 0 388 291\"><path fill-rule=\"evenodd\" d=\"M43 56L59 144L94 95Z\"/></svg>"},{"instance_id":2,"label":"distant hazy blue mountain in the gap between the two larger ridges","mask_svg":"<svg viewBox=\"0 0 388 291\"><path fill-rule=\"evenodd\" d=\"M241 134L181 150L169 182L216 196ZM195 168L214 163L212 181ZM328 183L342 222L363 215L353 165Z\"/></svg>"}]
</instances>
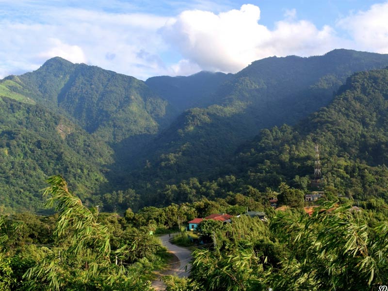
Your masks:
<instances>
[{"instance_id":1,"label":"distant hazy blue mountain in the gap between the two larger ridges","mask_svg":"<svg viewBox=\"0 0 388 291\"><path fill-rule=\"evenodd\" d=\"M211 105L212 94L232 78L233 74L201 71L187 77L151 77L146 84L182 112L192 107Z\"/></svg>"}]
</instances>

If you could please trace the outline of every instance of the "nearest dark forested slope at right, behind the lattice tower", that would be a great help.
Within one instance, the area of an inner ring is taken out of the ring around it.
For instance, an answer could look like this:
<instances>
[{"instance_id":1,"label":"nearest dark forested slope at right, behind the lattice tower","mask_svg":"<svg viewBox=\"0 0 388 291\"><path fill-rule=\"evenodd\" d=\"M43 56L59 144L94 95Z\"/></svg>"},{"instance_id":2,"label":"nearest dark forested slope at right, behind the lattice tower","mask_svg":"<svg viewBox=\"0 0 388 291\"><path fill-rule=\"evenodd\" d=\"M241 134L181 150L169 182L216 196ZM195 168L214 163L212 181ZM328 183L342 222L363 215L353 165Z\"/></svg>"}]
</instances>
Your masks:
<instances>
[{"instance_id":1,"label":"nearest dark forested slope at right, behind the lattice tower","mask_svg":"<svg viewBox=\"0 0 388 291\"><path fill-rule=\"evenodd\" d=\"M388 200L388 69L354 74L328 107L292 128L263 129L233 161L234 172L258 189L281 181L306 189L314 144L323 185L356 199Z\"/></svg>"}]
</instances>

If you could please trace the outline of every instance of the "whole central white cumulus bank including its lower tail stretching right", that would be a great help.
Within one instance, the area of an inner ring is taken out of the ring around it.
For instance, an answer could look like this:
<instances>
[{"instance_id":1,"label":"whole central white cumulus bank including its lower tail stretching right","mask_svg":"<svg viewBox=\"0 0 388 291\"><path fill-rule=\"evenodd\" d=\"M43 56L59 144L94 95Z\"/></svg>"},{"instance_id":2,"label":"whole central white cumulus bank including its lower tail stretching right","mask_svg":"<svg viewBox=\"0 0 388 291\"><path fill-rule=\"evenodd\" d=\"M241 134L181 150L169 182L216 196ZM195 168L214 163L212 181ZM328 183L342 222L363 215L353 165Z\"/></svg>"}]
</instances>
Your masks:
<instances>
[{"instance_id":1,"label":"whole central white cumulus bank including its lower tail stretching right","mask_svg":"<svg viewBox=\"0 0 388 291\"><path fill-rule=\"evenodd\" d=\"M295 16L296 11L288 14ZM306 20L279 21L275 30L259 24L258 6L245 4L240 10L215 15L192 10L170 19L162 29L168 43L203 69L236 72L265 57L323 54L340 40L329 26L321 30Z\"/></svg>"}]
</instances>

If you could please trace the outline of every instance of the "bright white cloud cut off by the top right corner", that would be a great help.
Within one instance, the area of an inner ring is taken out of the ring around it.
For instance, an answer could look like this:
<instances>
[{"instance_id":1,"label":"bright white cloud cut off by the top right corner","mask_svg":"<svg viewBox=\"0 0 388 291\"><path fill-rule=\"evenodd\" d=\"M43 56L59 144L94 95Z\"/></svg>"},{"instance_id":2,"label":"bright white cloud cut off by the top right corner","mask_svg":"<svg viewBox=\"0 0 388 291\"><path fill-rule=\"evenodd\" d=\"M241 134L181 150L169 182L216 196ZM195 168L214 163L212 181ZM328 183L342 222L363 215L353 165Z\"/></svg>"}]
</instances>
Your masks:
<instances>
[{"instance_id":1,"label":"bright white cloud cut off by the top right corner","mask_svg":"<svg viewBox=\"0 0 388 291\"><path fill-rule=\"evenodd\" d=\"M388 2L340 19L338 26L351 34L355 49L388 53Z\"/></svg>"}]
</instances>

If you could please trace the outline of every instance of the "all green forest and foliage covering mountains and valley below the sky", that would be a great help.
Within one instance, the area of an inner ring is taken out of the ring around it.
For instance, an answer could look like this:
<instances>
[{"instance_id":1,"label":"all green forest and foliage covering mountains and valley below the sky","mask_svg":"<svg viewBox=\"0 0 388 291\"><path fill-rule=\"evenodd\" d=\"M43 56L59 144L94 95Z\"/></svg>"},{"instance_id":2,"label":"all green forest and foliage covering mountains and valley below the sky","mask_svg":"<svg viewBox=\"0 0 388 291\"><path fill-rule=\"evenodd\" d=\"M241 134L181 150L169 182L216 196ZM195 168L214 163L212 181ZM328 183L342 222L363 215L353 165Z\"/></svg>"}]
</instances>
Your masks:
<instances>
[{"instance_id":1,"label":"all green forest and foliage covering mountains and valley below the sky","mask_svg":"<svg viewBox=\"0 0 388 291\"><path fill-rule=\"evenodd\" d=\"M168 291L381 289L387 65L335 50L143 82L54 58L1 80L0 290L151 291L170 232L193 266Z\"/></svg>"}]
</instances>

